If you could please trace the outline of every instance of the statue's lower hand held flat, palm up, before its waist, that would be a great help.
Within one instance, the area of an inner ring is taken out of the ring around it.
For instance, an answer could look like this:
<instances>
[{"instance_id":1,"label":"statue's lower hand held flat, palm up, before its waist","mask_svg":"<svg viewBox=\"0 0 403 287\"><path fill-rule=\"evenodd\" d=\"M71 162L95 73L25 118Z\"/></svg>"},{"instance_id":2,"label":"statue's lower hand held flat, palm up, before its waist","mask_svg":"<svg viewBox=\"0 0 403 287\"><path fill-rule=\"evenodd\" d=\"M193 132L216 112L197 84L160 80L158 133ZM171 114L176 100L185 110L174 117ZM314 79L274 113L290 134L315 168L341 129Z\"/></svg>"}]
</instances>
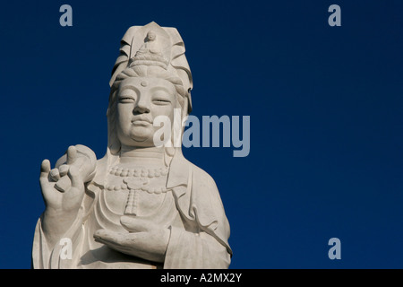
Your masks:
<instances>
[{"instance_id":1,"label":"statue's lower hand held flat, palm up, before its waist","mask_svg":"<svg viewBox=\"0 0 403 287\"><path fill-rule=\"evenodd\" d=\"M129 232L97 230L94 239L124 254L164 262L169 229L130 216L123 216L121 222Z\"/></svg>"}]
</instances>

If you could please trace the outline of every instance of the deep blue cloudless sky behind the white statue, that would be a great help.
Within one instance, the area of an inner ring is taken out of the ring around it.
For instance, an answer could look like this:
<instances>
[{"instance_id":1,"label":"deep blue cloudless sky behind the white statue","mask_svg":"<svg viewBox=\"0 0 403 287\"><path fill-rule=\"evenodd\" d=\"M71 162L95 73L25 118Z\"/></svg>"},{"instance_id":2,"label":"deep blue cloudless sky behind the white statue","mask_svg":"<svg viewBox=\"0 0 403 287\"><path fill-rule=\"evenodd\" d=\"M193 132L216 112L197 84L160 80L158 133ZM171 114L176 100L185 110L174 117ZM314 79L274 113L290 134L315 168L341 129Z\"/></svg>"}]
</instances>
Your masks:
<instances>
[{"instance_id":1,"label":"deep blue cloudless sky behind the white statue","mask_svg":"<svg viewBox=\"0 0 403 287\"><path fill-rule=\"evenodd\" d=\"M402 268L402 13L392 0L3 3L0 267L30 268L40 162L77 143L106 152L119 41L155 21L184 39L193 115L251 117L245 158L184 149L219 187L230 267Z\"/></svg>"}]
</instances>

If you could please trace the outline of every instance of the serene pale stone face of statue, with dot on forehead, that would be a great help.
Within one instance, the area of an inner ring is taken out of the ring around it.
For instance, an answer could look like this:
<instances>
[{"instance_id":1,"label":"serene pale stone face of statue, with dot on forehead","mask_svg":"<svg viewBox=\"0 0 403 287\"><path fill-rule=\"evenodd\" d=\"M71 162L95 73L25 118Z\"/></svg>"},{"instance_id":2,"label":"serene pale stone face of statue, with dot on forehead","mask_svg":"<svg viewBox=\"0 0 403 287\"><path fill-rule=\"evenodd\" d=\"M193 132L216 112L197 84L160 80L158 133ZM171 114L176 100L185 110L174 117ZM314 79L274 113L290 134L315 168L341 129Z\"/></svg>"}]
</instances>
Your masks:
<instances>
[{"instance_id":1,"label":"serene pale stone face of statue, with dot on forehead","mask_svg":"<svg viewBox=\"0 0 403 287\"><path fill-rule=\"evenodd\" d=\"M135 77L120 84L116 98L116 130L119 141L127 146L155 146L155 117L169 117L173 123L176 108L175 86L164 79Z\"/></svg>"}]
</instances>

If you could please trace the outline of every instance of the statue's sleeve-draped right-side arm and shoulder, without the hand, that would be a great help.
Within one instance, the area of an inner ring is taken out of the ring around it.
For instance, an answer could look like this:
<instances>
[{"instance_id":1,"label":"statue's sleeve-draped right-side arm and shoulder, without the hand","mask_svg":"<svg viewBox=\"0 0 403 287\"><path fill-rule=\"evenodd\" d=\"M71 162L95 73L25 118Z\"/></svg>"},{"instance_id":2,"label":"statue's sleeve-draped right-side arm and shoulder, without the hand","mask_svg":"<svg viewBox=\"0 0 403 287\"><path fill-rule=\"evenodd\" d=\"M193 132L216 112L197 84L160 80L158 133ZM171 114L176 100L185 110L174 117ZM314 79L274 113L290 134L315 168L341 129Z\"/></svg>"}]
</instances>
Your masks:
<instances>
[{"instance_id":1,"label":"statue's sleeve-draped right-side arm and shoulder, without the hand","mask_svg":"<svg viewBox=\"0 0 403 287\"><path fill-rule=\"evenodd\" d=\"M193 169L185 193L176 187L178 211L184 228L171 226L164 268L228 268L229 223L219 189L205 171Z\"/></svg>"}]
</instances>

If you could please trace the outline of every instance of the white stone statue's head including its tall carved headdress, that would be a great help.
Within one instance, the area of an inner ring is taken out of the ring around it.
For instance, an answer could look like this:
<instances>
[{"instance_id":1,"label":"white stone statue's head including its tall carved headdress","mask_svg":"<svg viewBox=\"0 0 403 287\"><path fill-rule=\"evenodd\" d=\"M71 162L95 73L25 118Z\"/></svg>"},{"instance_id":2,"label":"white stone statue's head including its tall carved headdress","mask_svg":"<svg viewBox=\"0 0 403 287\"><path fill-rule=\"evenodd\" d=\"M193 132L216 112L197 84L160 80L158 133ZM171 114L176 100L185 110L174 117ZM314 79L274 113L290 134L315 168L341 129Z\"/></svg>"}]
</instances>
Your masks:
<instances>
[{"instance_id":1,"label":"white stone statue's head including its tall carved headdress","mask_svg":"<svg viewBox=\"0 0 403 287\"><path fill-rule=\"evenodd\" d=\"M158 116L173 123L174 109L182 117L192 110L192 74L184 57L184 42L175 28L155 22L133 26L124 34L110 80L107 109L108 151L122 144L153 146Z\"/></svg>"}]
</instances>

